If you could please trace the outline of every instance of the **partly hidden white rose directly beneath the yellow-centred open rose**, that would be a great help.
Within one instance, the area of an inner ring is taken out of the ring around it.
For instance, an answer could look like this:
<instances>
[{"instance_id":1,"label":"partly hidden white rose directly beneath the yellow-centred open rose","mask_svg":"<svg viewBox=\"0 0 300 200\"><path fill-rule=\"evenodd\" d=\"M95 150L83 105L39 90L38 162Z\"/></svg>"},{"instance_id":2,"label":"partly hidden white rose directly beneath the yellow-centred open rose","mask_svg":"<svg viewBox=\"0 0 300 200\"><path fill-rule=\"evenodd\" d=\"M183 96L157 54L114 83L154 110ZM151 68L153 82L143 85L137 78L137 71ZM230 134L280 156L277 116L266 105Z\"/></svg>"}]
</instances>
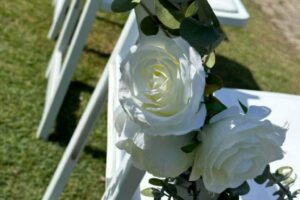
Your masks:
<instances>
[{"instance_id":1,"label":"partly hidden white rose directly beneath the yellow-centred open rose","mask_svg":"<svg viewBox=\"0 0 300 200\"><path fill-rule=\"evenodd\" d=\"M131 155L135 167L158 177L176 177L192 166L195 154L186 154L181 147L193 141L196 137L194 133L148 136L122 109L118 112L116 128L121 137L116 146Z\"/></svg>"}]
</instances>

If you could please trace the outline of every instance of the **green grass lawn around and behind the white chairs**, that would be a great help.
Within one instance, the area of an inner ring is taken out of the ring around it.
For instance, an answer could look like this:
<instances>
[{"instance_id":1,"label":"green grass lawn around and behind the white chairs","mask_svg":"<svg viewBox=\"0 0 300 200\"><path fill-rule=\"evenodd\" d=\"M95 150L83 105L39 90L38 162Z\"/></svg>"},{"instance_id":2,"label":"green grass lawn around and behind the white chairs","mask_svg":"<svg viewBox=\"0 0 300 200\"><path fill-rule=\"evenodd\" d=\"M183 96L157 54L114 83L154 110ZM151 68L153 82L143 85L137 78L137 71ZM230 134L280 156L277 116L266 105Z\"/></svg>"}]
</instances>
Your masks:
<instances>
[{"instance_id":1,"label":"green grass lawn around and behind the white chairs","mask_svg":"<svg viewBox=\"0 0 300 200\"><path fill-rule=\"evenodd\" d=\"M246 28L225 28L217 50L228 87L300 94L300 56L250 1ZM41 199L126 20L98 14L50 142L36 139L44 72L53 41L46 38L51 1L3 1L0 7L0 200ZM105 27L105 28L103 28ZM99 199L106 157L104 112L61 199Z\"/></svg>"}]
</instances>

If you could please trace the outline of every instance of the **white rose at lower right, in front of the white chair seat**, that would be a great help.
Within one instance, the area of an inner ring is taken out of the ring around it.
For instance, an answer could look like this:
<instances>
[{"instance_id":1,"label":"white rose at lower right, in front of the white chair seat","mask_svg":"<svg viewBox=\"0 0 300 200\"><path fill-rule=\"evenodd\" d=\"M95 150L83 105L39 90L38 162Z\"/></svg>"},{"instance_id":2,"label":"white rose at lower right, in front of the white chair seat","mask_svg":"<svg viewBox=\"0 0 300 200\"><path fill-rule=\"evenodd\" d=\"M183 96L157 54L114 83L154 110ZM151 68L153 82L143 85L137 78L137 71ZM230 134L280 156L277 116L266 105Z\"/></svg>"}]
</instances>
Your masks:
<instances>
[{"instance_id":1,"label":"white rose at lower right, in front of the white chair seat","mask_svg":"<svg viewBox=\"0 0 300 200\"><path fill-rule=\"evenodd\" d=\"M287 129L262 120L266 107L252 106L247 114L231 107L216 115L198 135L190 180L203 177L205 187L220 193L262 174L272 161L281 159Z\"/></svg>"}]
</instances>

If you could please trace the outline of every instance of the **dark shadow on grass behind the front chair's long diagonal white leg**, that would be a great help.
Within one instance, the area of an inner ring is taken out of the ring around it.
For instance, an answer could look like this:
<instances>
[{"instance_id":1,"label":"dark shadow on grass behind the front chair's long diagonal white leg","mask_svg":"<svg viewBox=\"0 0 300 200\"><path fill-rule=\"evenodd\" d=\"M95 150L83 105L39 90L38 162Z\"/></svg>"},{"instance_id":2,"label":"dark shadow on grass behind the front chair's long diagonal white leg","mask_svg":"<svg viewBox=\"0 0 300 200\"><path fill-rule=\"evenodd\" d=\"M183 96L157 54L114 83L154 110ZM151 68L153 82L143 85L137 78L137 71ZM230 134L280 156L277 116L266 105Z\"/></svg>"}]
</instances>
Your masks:
<instances>
[{"instance_id":1,"label":"dark shadow on grass behind the front chair's long diagonal white leg","mask_svg":"<svg viewBox=\"0 0 300 200\"><path fill-rule=\"evenodd\" d=\"M80 116L77 112L80 107L80 94L92 94L94 87L79 81L73 81L70 84L63 105L57 116L54 132L49 136L49 141L58 143L60 146L66 147L78 125ZM86 146L84 152L93 158L105 158L106 152L92 146Z\"/></svg>"}]
</instances>

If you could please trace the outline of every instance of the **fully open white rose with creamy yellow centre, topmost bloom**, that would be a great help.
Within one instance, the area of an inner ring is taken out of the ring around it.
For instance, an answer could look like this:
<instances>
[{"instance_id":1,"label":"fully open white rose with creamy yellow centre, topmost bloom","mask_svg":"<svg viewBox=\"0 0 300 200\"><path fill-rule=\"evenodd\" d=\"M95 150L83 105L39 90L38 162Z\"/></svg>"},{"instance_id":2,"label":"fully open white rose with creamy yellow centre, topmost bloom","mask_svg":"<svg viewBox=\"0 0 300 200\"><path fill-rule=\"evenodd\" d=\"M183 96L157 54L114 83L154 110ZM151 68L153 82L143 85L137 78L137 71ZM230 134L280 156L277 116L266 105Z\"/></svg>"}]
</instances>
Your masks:
<instances>
[{"instance_id":1,"label":"fully open white rose with creamy yellow centre, topmost bloom","mask_svg":"<svg viewBox=\"0 0 300 200\"><path fill-rule=\"evenodd\" d=\"M121 63L119 98L146 135L184 135L200 128L205 72L200 55L183 39L150 36Z\"/></svg>"}]
</instances>

